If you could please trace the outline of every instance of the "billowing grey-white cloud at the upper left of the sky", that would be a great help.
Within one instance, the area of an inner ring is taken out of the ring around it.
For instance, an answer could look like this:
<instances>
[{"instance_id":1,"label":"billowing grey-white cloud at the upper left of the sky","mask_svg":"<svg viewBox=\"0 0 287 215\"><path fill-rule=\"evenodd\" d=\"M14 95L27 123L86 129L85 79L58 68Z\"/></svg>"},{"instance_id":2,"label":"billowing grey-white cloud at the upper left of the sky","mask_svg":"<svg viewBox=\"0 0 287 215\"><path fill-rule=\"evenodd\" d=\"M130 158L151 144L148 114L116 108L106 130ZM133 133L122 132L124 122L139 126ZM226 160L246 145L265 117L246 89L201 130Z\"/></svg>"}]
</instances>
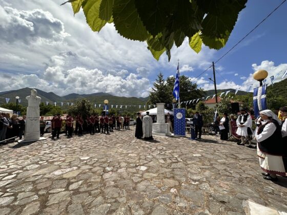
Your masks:
<instances>
[{"instance_id":1,"label":"billowing grey-white cloud at the upper left of the sky","mask_svg":"<svg viewBox=\"0 0 287 215\"><path fill-rule=\"evenodd\" d=\"M48 11L17 10L0 6L0 38L7 42L62 42L67 34L64 24Z\"/></svg>"}]
</instances>

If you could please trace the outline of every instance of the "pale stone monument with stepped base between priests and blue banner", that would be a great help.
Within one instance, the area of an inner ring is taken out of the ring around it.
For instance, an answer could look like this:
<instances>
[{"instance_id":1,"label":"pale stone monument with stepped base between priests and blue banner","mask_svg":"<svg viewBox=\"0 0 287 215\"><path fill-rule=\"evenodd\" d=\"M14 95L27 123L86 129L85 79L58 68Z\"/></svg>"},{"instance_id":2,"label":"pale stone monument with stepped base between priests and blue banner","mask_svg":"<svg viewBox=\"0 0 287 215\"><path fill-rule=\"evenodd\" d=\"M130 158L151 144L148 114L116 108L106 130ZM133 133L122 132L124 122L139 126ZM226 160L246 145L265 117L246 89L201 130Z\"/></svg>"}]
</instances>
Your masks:
<instances>
[{"instance_id":1,"label":"pale stone monument with stepped base between priests and blue banner","mask_svg":"<svg viewBox=\"0 0 287 215\"><path fill-rule=\"evenodd\" d=\"M153 123L153 135L169 136L170 124L165 120L165 103L157 103L156 123Z\"/></svg>"}]
</instances>

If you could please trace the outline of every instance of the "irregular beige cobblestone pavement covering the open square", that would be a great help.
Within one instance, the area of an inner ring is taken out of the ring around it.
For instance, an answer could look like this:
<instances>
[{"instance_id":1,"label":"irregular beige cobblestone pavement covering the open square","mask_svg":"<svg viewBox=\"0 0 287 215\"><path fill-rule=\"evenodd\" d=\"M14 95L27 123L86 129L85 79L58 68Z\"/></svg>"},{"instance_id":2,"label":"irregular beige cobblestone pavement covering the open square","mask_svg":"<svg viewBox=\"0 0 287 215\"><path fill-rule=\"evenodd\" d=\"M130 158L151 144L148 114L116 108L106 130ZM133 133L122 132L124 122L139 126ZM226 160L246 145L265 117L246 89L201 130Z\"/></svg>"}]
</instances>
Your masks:
<instances>
[{"instance_id":1,"label":"irregular beige cobblestone pavement covering the open square","mask_svg":"<svg viewBox=\"0 0 287 215\"><path fill-rule=\"evenodd\" d=\"M231 215L245 214L247 200L287 211L287 178L262 179L256 149L133 135L0 146L0 214Z\"/></svg>"}]
</instances>

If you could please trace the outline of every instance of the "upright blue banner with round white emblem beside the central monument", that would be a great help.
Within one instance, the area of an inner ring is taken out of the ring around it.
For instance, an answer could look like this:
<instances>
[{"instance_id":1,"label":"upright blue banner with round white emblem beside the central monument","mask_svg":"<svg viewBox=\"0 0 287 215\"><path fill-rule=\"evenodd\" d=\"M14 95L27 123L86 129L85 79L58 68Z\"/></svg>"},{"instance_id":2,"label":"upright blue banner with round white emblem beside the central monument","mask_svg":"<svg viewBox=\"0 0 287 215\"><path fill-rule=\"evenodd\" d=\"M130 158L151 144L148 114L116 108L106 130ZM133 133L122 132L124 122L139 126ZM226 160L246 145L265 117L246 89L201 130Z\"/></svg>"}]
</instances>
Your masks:
<instances>
[{"instance_id":1,"label":"upright blue banner with round white emblem beside the central monument","mask_svg":"<svg viewBox=\"0 0 287 215\"><path fill-rule=\"evenodd\" d=\"M186 136L186 109L175 108L174 116L174 135Z\"/></svg>"}]
</instances>

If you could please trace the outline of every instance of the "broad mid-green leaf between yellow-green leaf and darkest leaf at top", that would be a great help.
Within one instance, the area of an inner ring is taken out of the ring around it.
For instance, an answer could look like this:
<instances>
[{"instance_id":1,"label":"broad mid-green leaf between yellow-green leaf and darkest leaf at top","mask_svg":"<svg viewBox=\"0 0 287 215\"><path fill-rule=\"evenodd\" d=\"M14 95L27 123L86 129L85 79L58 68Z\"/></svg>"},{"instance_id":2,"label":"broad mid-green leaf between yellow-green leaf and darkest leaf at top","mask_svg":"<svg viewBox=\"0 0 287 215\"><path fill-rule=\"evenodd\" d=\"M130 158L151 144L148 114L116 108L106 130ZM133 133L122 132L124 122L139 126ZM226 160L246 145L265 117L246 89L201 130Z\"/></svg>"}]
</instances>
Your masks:
<instances>
[{"instance_id":1,"label":"broad mid-green leaf between yellow-green leaf and darkest leaf at top","mask_svg":"<svg viewBox=\"0 0 287 215\"><path fill-rule=\"evenodd\" d=\"M149 33L142 24L135 0L117 0L114 2L113 19L118 33L128 39L145 41Z\"/></svg>"}]
</instances>

